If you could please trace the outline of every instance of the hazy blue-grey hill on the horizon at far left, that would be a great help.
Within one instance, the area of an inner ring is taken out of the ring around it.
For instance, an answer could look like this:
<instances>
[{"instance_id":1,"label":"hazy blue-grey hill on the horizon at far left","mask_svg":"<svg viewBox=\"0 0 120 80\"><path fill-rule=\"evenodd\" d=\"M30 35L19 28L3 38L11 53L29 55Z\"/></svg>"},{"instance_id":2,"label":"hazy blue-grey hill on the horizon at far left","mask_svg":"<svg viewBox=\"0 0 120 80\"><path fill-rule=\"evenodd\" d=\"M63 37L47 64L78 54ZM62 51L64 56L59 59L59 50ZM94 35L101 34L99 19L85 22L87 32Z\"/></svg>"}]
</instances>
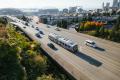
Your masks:
<instances>
[{"instance_id":1,"label":"hazy blue-grey hill on the horizon at far left","mask_svg":"<svg viewBox=\"0 0 120 80\"><path fill-rule=\"evenodd\" d=\"M0 9L0 15L23 15L24 13L15 8L4 8Z\"/></svg>"}]
</instances>

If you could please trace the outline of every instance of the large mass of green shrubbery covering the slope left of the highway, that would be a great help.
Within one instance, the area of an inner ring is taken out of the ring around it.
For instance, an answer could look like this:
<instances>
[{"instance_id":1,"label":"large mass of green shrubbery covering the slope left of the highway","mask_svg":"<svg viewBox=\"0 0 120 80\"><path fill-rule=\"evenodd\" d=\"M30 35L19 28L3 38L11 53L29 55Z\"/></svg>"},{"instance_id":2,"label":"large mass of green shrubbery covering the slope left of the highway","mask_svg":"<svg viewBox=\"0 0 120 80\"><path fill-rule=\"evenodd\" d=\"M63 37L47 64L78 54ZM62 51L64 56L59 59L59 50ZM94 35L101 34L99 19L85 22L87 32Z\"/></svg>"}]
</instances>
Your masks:
<instances>
[{"instance_id":1,"label":"large mass of green shrubbery covering the slope left of the highway","mask_svg":"<svg viewBox=\"0 0 120 80\"><path fill-rule=\"evenodd\" d=\"M8 25L7 32L6 41L0 41L0 80L69 80L51 66L38 43L16 32L12 25Z\"/></svg>"}]
</instances>

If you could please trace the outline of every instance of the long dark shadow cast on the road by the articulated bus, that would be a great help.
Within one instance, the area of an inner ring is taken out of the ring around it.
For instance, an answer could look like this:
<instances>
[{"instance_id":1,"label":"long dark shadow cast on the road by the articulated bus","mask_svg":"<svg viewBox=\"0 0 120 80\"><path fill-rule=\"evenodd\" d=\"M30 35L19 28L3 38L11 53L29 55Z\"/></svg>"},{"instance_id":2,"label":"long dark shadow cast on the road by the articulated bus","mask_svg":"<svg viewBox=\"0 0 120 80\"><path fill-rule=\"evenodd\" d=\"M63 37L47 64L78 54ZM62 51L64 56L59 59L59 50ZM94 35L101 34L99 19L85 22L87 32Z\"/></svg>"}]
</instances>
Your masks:
<instances>
[{"instance_id":1,"label":"long dark shadow cast on the road by the articulated bus","mask_svg":"<svg viewBox=\"0 0 120 80\"><path fill-rule=\"evenodd\" d=\"M78 51L75 53L75 55L80 57L81 59L87 61L89 64L92 64L96 67L100 67L102 65L102 63L100 61L98 61L98 60L96 60L96 59L94 59L94 58L92 58L92 57L90 57L82 52Z\"/></svg>"}]
</instances>

